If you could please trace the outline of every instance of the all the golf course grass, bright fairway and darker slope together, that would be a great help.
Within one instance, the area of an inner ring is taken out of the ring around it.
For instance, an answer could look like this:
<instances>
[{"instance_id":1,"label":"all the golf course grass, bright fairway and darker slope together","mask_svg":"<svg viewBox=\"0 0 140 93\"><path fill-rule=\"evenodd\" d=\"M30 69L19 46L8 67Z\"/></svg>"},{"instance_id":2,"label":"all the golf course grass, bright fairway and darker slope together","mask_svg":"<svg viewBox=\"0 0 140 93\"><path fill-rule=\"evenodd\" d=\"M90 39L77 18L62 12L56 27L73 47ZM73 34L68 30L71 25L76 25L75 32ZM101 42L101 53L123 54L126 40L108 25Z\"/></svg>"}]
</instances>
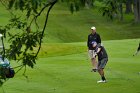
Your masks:
<instances>
[{"instance_id":1,"label":"all the golf course grass, bright fairway and darker slope together","mask_svg":"<svg viewBox=\"0 0 140 93\"><path fill-rule=\"evenodd\" d=\"M0 25L5 25L10 15L1 5L0 11ZM43 21L41 16L40 26ZM96 26L109 55L105 84L97 84L99 74L90 72L86 40L91 26ZM96 9L71 14L65 4L57 3L49 16L37 64L34 69L27 68L28 79L22 70L4 83L0 93L3 89L5 93L140 93L140 53L132 56L139 35L140 25L133 24L132 15L125 15L123 22L112 22ZM17 63L11 61L11 65Z\"/></svg>"}]
</instances>

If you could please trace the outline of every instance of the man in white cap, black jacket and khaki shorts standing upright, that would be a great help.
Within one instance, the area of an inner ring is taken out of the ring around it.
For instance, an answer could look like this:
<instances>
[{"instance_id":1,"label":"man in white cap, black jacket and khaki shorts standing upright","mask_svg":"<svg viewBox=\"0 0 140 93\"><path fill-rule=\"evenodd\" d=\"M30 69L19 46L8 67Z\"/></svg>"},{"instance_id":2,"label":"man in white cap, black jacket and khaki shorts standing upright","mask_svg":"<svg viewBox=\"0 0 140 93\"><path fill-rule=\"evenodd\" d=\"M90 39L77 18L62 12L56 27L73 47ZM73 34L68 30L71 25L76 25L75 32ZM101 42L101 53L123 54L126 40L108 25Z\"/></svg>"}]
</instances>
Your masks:
<instances>
[{"instance_id":1,"label":"man in white cap, black jacket and khaki shorts standing upright","mask_svg":"<svg viewBox=\"0 0 140 93\"><path fill-rule=\"evenodd\" d=\"M91 64L93 66L92 71L96 72L97 70L97 61L96 61L96 55L95 55L95 50L92 47L92 41L96 41L97 45L101 45L101 38L98 33L96 33L96 28L93 26L91 27L91 34L88 35L88 40L87 40L87 47L88 47L88 54L91 59Z\"/></svg>"}]
</instances>

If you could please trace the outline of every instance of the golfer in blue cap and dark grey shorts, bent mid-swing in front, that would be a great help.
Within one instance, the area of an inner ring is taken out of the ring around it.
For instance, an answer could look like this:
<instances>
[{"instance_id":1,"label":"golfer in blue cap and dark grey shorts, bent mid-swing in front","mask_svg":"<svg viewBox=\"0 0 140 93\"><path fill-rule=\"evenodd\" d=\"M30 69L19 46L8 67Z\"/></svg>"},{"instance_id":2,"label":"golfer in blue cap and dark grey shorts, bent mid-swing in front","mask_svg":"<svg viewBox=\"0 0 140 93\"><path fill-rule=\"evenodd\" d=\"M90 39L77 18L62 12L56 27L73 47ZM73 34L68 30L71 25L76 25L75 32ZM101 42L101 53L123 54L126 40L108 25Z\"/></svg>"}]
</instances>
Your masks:
<instances>
[{"instance_id":1,"label":"golfer in blue cap and dark grey shorts, bent mid-swing in front","mask_svg":"<svg viewBox=\"0 0 140 93\"><path fill-rule=\"evenodd\" d=\"M97 46L97 43L95 41L92 42L92 46L95 49L95 53L98 56L98 72L101 76L101 80L97 81L97 83L105 83L106 78L104 76L104 68L108 61L108 55L103 46Z\"/></svg>"}]
</instances>

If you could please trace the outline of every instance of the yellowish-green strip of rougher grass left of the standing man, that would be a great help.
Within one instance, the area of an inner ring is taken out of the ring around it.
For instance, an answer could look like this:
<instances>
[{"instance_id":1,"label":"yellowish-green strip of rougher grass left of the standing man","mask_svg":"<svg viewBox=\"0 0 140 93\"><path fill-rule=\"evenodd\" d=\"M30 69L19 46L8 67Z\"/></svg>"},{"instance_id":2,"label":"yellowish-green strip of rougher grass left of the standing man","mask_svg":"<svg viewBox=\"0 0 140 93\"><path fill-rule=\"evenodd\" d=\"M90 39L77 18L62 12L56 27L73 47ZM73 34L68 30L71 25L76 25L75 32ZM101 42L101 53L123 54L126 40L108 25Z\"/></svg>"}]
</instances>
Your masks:
<instances>
[{"instance_id":1,"label":"yellowish-green strip of rougher grass left of the standing man","mask_svg":"<svg viewBox=\"0 0 140 93\"><path fill-rule=\"evenodd\" d=\"M39 53L39 57L53 57L83 53L87 51L86 43L44 43Z\"/></svg>"}]
</instances>

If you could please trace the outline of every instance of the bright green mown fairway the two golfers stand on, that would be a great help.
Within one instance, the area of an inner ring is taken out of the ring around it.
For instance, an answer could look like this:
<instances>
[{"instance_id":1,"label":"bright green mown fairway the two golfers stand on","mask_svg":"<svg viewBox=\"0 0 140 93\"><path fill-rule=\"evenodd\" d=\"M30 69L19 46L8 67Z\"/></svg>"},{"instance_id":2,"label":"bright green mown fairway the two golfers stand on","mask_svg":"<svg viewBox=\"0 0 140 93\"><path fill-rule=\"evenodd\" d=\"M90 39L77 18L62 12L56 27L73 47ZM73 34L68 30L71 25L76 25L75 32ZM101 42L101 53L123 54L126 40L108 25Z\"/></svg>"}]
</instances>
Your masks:
<instances>
[{"instance_id":1,"label":"bright green mown fairway the two golfers stand on","mask_svg":"<svg viewBox=\"0 0 140 93\"><path fill-rule=\"evenodd\" d=\"M103 42L109 55L105 68L108 82L105 84L96 83L100 76L90 72L90 60L83 50L86 46L81 42L62 45L62 48L77 45L77 50L81 52L73 49L68 55L63 48L59 51L60 56L57 55L57 51L52 52L51 56L42 56L34 69L28 68L28 80L22 76L21 71L13 79L9 79L3 89L6 93L139 93L140 54L132 56L138 41L132 39ZM79 46L83 48L78 49ZM13 62L11 64L14 65Z\"/></svg>"}]
</instances>

